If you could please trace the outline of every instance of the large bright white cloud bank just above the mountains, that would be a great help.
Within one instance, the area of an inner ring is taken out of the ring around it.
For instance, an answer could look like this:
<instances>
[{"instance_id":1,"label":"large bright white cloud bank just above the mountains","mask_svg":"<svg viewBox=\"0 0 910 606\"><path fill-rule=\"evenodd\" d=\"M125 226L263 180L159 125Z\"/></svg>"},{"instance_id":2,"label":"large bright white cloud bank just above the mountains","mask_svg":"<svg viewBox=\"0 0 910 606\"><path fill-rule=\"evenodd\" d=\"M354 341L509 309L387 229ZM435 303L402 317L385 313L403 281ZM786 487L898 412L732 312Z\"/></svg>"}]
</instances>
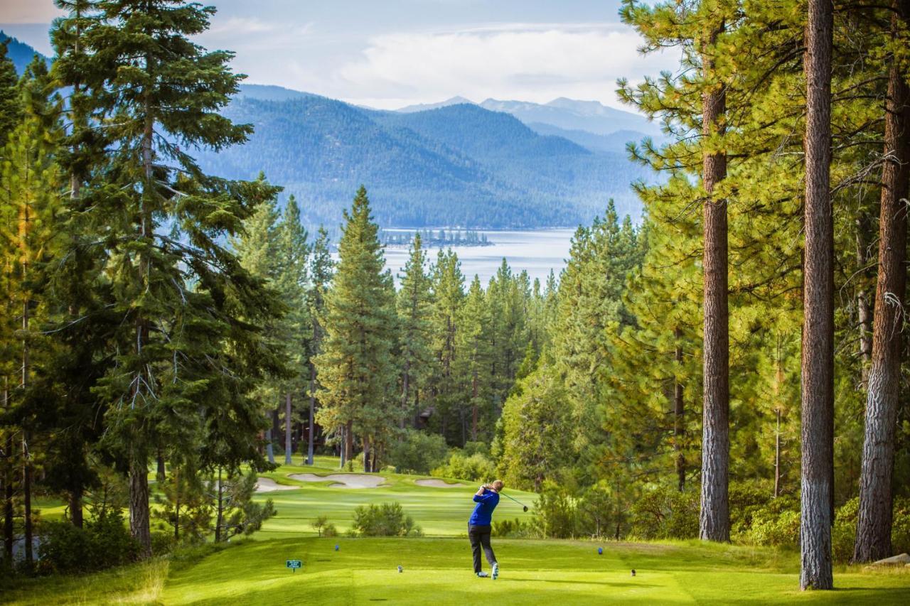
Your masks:
<instances>
[{"instance_id":1,"label":"large bright white cloud bank just above the mountains","mask_svg":"<svg viewBox=\"0 0 910 606\"><path fill-rule=\"evenodd\" d=\"M335 78L346 98L379 106L455 95L537 102L569 96L620 106L617 78L634 82L674 64L670 54L640 55L640 44L630 28L614 24L488 25L379 35Z\"/></svg>"}]
</instances>

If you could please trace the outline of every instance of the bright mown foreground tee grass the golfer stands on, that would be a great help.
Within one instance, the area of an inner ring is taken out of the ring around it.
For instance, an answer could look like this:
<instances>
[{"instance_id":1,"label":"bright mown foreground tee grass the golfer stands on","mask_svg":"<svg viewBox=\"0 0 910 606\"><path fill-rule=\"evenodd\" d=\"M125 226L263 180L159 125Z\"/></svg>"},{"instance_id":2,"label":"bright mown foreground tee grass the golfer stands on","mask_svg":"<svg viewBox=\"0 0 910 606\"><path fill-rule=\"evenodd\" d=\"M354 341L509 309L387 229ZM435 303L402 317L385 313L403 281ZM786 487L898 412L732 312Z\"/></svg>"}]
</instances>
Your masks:
<instances>
[{"instance_id":1,"label":"bright mown foreground tee grass the golfer stands on","mask_svg":"<svg viewBox=\"0 0 910 606\"><path fill-rule=\"evenodd\" d=\"M775 550L496 539L493 547L501 562L497 581L474 577L466 539L248 542L174 572L161 598L166 604L442 605L481 595L509 604L910 603L910 572L903 570L839 569L837 591L798 591L797 556ZM288 559L303 561L302 571L286 569Z\"/></svg>"}]
</instances>

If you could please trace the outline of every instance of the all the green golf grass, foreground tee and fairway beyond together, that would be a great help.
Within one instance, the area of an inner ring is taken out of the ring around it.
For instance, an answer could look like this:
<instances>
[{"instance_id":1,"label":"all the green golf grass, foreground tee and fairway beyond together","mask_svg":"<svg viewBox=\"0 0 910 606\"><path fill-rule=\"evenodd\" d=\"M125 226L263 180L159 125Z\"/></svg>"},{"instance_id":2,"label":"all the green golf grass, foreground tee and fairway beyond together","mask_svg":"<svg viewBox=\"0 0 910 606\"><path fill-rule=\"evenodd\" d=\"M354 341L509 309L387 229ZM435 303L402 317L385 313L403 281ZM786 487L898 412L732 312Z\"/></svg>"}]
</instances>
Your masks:
<instances>
[{"instance_id":1,"label":"all the green golf grass, foreground tee and fairway beyond together","mask_svg":"<svg viewBox=\"0 0 910 606\"><path fill-rule=\"evenodd\" d=\"M464 533L472 486L432 489L416 477L380 474L379 489L333 489L328 483L295 482L289 473L337 470L334 461L314 468L282 467L266 474L297 490L260 495L276 501L278 517L253 540L227 549L208 546L176 561L158 559L83 577L52 577L0 587L0 603L12 604L359 604L464 603L485 596L506 603L910 603L910 569L835 571L834 592L800 592L799 559L791 552L744 546L599 543L563 540L500 540L498 581L476 579ZM531 503L533 495L511 492ZM399 500L430 535L425 539L317 539L309 522L328 515L339 530L359 504ZM530 516L509 500L502 517ZM333 549L339 544L340 550ZM207 556L202 557L199 553ZM304 570L285 569L287 559ZM397 566L404 567L399 574ZM486 564L485 569L489 570ZM630 569L639 574L635 578Z\"/></svg>"}]
</instances>

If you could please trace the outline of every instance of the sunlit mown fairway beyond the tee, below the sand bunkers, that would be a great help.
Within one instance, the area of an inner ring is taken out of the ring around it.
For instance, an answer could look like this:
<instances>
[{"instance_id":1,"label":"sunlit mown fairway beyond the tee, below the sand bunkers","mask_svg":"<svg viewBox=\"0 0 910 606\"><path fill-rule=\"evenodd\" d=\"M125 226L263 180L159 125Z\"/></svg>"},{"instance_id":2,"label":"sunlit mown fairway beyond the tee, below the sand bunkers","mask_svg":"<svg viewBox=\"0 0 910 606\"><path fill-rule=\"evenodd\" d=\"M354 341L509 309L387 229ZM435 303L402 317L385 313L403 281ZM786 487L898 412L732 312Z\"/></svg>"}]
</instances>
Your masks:
<instances>
[{"instance_id":1,"label":"sunlit mown fairway beyond the tee, below the sand bunkers","mask_svg":"<svg viewBox=\"0 0 910 606\"><path fill-rule=\"evenodd\" d=\"M283 460L283 457L278 460ZM295 463L300 457L294 457ZM313 473L327 476L333 473L349 473L338 469L338 460L317 457L313 466L282 465L278 470L261 474L278 484L298 487L295 490L276 490L259 493L256 500L271 499L275 502L278 515L268 520L254 538L259 540L278 539L290 536L316 535L310 523L319 516L327 516L339 532L349 530L354 509L360 505L398 501L405 513L410 515L427 536L467 535L468 518L473 510L471 500L477 490L477 482L464 482L458 488L430 488L419 486L415 480L429 476L410 476L397 473L379 472L385 479L384 486L372 489L332 488L332 482L308 482L292 480L288 476L298 473ZM355 473L358 472L355 468ZM490 480L493 480L490 478ZM458 480L449 479L450 482ZM507 493L532 508L536 495L532 492L511 490ZM497 520L531 520L532 511L524 512L521 505L502 498L496 508Z\"/></svg>"}]
</instances>

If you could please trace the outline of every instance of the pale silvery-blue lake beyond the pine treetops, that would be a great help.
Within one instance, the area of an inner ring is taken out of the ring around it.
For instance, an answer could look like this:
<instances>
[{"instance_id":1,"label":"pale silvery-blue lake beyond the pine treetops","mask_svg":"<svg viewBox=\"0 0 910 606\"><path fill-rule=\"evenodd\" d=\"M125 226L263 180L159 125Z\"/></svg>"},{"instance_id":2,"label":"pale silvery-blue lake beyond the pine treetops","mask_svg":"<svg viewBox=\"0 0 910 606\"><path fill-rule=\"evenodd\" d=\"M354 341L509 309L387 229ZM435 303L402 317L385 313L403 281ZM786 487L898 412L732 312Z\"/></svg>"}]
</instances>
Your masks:
<instances>
[{"instance_id":1,"label":"pale silvery-blue lake beyond the pine treetops","mask_svg":"<svg viewBox=\"0 0 910 606\"><path fill-rule=\"evenodd\" d=\"M383 229L386 233L412 233L410 229ZM422 229L421 229L422 231ZM436 229L432 230L436 231ZM571 237L574 229L533 229L529 231L484 231L493 246L487 247L451 247L461 261L461 273L465 276L465 288L470 285L474 274L480 276L480 283L486 288L490 278L506 258L515 274L521 270L528 272L531 282L534 278L541 280L541 288L546 284L550 270L559 278L560 271L569 258ZM439 248L430 248L427 258L436 261ZM386 247L386 267L398 276L408 260L409 248ZM398 282L398 278L396 278Z\"/></svg>"}]
</instances>

